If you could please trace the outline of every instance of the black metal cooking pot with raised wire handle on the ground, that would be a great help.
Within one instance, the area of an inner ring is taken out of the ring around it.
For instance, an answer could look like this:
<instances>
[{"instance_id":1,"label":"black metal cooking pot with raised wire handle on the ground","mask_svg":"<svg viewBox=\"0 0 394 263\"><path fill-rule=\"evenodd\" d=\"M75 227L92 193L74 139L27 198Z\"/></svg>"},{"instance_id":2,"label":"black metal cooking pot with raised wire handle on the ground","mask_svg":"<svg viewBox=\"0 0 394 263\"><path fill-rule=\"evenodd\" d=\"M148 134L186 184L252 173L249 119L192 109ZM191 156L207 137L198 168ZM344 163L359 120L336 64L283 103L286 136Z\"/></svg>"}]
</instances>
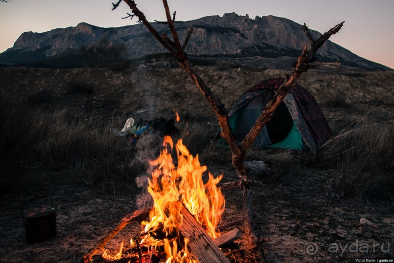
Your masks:
<instances>
[{"instance_id":1,"label":"black metal cooking pot with raised wire handle on the ground","mask_svg":"<svg viewBox=\"0 0 394 263\"><path fill-rule=\"evenodd\" d=\"M52 207L41 208L34 212L29 212L26 216L23 213L23 208L38 198L49 197L51 199ZM56 236L56 209L53 205L52 197L36 197L21 205L23 216L23 223L26 229L26 241L30 244L46 241Z\"/></svg>"}]
</instances>

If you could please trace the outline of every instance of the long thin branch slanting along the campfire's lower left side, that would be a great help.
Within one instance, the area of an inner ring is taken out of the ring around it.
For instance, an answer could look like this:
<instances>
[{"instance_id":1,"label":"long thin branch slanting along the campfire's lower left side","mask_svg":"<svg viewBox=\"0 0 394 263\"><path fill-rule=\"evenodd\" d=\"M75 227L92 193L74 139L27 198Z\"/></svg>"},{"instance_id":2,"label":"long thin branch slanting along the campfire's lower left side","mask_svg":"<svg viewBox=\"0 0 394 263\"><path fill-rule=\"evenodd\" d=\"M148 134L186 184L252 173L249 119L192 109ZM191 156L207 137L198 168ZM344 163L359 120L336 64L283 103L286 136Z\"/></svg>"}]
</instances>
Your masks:
<instances>
[{"instance_id":1,"label":"long thin branch slanting along the campfire's lower left side","mask_svg":"<svg viewBox=\"0 0 394 263\"><path fill-rule=\"evenodd\" d=\"M108 241L113 239L119 233L119 231L121 231L127 224L148 217L149 210L150 209L137 210L133 214L124 217L114 229L112 229L107 235L105 235L96 246L92 247L89 252L87 252L86 255L83 256L82 262L91 262L92 257L98 252L100 252L104 248L104 245Z\"/></svg>"}]
</instances>

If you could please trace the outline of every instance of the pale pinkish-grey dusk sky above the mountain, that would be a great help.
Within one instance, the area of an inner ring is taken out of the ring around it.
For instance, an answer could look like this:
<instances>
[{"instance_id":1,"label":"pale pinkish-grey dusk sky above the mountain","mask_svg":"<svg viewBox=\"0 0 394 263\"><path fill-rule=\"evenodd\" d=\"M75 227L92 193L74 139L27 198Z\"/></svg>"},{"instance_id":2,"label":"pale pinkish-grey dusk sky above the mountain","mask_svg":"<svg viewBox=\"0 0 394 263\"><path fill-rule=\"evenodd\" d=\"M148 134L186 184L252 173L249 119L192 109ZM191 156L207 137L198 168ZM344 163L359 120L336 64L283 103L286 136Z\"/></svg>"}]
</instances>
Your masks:
<instances>
[{"instance_id":1,"label":"pale pinkish-grey dusk sky above the mountain","mask_svg":"<svg viewBox=\"0 0 394 263\"><path fill-rule=\"evenodd\" d=\"M135 0L148 21L165 20L161 0ZM80 22L118 27L136 21L121 19L130 13L125 3L115 11L111 0L11 0L0 2L0 52L12 47L26 31L45 32ZM235 12L273 15L303 24L321 33L345 21L332 42L358 56L394 68L394 0L168 0L178 21ZM284 32L286 33L286 32ZM301 47L300 47L301 48Z\"/></svg>"}]
</instances>

